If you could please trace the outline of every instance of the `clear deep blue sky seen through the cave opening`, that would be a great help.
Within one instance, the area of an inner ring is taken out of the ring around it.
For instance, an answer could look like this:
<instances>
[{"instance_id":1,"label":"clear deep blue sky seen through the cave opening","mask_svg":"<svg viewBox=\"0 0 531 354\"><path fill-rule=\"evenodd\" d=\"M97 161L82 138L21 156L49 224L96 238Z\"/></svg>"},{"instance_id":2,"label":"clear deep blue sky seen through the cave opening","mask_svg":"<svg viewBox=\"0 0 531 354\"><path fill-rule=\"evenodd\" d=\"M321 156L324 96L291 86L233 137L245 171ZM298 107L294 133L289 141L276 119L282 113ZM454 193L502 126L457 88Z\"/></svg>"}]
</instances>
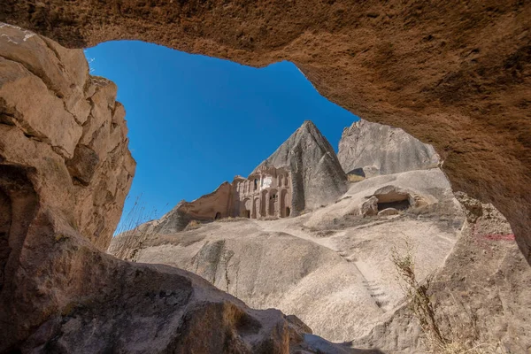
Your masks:
<instances>
[{"instance_id":1,"label":"clear deep blue sky seen through the cave opening","mask_svg":"<svg viewBox=\"0 0 531 354\"><path fill-rule=\"evenodd\" d=\"M312 87L296 65L264 68L190 55L145 42L105 42L85 50L91 73L118 85L126 107L136 198L161 215L181 199L246 176L312 120L337 150L357 117Z\"/></svg>"}]
</instances>

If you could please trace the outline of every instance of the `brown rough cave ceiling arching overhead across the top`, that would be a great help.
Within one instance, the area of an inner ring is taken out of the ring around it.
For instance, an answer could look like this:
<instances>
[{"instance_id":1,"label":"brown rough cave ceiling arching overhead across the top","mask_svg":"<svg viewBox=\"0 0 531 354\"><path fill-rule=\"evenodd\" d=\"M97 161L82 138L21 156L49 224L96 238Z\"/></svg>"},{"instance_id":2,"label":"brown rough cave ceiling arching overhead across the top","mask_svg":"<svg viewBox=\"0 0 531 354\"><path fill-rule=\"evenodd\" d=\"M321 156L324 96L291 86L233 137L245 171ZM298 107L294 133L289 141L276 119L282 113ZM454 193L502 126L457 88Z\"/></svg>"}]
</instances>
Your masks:
<instances>
[{"instance_id":1,"label":"brown rough cave ceiling arching overhead across the top","mask_svg":"<svg viewBox=\"0 0 531 354\"><path fill-rule=\"evenodd\" d=\"M435 147L456 190L531 250L531 3L4 0L0 21L75 48L135 39L245 65L295 63L335 104ZM294 20L295 19L295 20Z\"/></svg>"}]
</instances>

